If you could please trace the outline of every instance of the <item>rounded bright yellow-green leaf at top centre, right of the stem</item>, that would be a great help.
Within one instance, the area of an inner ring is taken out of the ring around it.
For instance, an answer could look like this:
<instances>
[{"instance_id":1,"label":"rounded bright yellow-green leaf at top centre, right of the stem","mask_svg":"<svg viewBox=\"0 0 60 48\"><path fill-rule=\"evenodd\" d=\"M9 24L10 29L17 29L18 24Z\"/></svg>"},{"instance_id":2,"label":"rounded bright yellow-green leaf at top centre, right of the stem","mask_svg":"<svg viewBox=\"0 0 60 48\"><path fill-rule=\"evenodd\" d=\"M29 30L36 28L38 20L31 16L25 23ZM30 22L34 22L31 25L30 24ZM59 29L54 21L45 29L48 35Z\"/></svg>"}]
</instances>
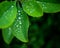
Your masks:
<instances>
[{"instance_id":1,"label":"rounded bright yellow-green leaf at top centre, right of the stem","mask_svg":"<svg viewBox=\"0 0 60 48\"><path fill-rule=\"evenodd\" d=\"M42 7L36 1L24 1L22 4L23 10L32 17L43 16Z\"/></svg>"}]
</instances>

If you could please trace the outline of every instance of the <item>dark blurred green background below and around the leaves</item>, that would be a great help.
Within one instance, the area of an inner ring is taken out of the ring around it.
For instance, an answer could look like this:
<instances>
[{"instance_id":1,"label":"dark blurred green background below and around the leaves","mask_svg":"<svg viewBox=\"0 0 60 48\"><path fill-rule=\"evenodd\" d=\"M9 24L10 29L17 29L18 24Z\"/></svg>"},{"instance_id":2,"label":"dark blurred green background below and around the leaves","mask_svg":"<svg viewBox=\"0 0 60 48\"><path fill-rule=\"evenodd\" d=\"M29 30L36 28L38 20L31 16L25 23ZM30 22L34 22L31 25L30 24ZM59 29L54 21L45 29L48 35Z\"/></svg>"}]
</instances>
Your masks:
<instances>
[{"instance_id":1,"label":"dark blurred green background below and around the leaves","mask_svg":"<svg viewBox=\"0 0 60 48\"><path fill-rule=\"evenodd\" d=\"M0 48L60 48L60 12L44 13L40 18L28 17L29 42L23 43L14 38L8 45L4 42L0 29Z\"/></svg>"}]
</instances>

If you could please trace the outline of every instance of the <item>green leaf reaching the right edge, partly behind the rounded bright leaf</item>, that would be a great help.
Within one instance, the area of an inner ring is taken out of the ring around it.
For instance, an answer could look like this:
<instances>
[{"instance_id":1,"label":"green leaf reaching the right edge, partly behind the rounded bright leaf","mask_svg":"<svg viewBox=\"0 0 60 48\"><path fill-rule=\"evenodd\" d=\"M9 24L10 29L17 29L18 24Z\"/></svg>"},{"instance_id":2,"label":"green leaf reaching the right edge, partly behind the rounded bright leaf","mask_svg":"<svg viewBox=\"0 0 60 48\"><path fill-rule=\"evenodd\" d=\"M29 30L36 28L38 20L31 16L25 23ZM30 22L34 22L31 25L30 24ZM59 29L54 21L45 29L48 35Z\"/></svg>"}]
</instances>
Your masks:
<instances>
[{"instance_id":1,"label":"green leaf reaching the right edge, partly behind the rounded bright leaf","mask_svg":"<svg viewBox=\"0 0 60 48\"><path fill-rule=\"evenodd\" d=\"M37 3L42 5L43 11L46 13L60 12L60 4L57 0L39 0Z\"/></svg>"}]
</instances>

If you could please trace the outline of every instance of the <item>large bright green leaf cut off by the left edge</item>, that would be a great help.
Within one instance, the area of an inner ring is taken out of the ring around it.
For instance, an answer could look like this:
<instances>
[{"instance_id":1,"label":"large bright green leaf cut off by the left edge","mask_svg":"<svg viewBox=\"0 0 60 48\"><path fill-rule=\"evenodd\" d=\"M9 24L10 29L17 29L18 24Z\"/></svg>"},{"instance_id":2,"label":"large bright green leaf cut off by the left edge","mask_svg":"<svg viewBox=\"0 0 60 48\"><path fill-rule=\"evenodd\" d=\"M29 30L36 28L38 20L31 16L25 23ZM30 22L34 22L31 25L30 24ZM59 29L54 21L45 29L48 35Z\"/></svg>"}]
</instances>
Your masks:
<instances>
[{"instance_id":1,"label":"large bright green leaf cut off by the left edge","mask_svg":"<svg viewBox=\"0 0 60 48\"><path fill-rule=\"evenodd\" d=\"M17 14L16 2L3 1L0 3L0 28L10 26Z\"/></svg>"}]
</instances>

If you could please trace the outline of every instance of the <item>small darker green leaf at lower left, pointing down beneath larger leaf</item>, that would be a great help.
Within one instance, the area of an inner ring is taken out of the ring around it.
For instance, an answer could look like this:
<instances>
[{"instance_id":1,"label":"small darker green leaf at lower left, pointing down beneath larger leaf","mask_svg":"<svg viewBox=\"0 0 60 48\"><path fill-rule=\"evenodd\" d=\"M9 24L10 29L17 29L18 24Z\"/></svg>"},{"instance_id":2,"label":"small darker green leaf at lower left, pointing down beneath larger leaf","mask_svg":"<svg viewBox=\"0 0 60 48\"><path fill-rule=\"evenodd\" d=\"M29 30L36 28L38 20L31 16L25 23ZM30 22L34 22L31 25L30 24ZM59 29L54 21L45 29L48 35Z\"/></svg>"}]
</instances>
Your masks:
<instances>
[{"instance_id":1,"label":"small darker green leaf at lower left, pointing down beneath larger leaf","mask_svg":"<svg viewBox=\"0 0 60 48\"><path fill-rule=\"evenodd\" d=\"M2 36L3 36L4 41L7 44L10 44L13 37L14 37L13 34L12 34L12 29L11 28L3 29L2 30Z\"/></svg>"}]
</instances>

